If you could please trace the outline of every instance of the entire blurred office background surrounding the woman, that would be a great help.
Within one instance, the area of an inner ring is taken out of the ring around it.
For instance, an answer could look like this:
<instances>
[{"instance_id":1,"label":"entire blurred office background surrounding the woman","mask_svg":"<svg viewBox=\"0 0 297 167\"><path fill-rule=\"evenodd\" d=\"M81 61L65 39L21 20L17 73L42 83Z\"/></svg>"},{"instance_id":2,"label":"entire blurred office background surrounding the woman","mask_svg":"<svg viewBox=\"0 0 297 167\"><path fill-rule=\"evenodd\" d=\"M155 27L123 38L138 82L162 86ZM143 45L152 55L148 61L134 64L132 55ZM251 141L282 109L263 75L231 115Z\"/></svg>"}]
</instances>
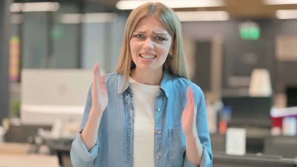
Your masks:
<instances>
[{"instance_id":1,"label":"entire blurred office background surrounding the woman","mask_svg":"<svg viewBox=\"0 0 297 167\"><path fill-rule=\"evenodd\" d=\"M115 71L126 20L141 2L0 1L4 166L71 166L92 67ZM214 166L294 166L297 1L160 2L182 23L190 75L205 93Z\"/></svg>"}]
</instances>

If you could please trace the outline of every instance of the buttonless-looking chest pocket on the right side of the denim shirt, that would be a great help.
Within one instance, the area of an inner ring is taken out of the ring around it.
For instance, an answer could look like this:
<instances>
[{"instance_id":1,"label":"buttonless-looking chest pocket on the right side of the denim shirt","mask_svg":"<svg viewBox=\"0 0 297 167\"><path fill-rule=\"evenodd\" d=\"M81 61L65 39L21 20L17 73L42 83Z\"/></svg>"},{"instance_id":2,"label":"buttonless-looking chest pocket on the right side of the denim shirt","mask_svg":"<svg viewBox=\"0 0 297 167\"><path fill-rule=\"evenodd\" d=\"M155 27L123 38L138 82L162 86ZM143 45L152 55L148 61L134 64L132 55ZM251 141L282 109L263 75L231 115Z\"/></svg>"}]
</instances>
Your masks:
<instances>
[{"instance_id":1,"label":"buttonless-looking chest pocket on the right side of the denim shirt","mask_svg":"<svg viewBox=\"0 0 297 167\"><path fill-rule=\"evenodd\" d=\"M168 129L169 156L171 167L181 167L186 151L186 138L181 126Z\"/></svg>"}]
</instances>

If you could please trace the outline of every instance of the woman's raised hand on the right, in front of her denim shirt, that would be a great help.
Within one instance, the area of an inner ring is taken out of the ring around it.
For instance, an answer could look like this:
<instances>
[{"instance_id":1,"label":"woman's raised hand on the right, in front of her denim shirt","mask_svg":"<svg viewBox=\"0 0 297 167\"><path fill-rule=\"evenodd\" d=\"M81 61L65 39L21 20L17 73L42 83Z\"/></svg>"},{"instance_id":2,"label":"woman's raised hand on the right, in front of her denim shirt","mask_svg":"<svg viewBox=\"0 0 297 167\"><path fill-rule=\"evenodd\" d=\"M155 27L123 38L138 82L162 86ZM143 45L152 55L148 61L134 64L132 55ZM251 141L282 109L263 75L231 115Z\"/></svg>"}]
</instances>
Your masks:
<instances>
[{"instance_id":1,"label":"woman's raised hand on the right, in front of her denim shirt","mask_svg":"<svg viewBox=\"0 0 297 167\"><path fill-rule=\"evenodd\" d=\"M187 105L182 115L182 127L186 136L196 137L197 106L195 103L194 92L191 87L187 90L187 98Z\"/></svg>"}]
</instances>

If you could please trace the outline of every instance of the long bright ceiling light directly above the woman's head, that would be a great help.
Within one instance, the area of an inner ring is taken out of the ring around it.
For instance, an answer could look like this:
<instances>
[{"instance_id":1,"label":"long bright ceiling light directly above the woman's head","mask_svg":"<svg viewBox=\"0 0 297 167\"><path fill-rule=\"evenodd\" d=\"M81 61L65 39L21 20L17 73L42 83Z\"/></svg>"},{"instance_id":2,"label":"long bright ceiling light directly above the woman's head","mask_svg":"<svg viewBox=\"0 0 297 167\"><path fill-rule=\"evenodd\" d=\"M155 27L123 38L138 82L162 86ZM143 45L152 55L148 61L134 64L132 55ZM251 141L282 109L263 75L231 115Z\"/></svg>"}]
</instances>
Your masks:
<instances>
[{"instance_id":1,"label":"long bright ceiling light directly above the woman's head","mask_svg":"<svg viewBox=\"0 0 297 167\"><path fill-rule=\"evenodd\" d=\"M224 0L123 0L116 3L116 8L120 10L132 10L148 2L159 2L168 6L169 8L204 8L225 6Z\"/></svg>"}]
</instances>

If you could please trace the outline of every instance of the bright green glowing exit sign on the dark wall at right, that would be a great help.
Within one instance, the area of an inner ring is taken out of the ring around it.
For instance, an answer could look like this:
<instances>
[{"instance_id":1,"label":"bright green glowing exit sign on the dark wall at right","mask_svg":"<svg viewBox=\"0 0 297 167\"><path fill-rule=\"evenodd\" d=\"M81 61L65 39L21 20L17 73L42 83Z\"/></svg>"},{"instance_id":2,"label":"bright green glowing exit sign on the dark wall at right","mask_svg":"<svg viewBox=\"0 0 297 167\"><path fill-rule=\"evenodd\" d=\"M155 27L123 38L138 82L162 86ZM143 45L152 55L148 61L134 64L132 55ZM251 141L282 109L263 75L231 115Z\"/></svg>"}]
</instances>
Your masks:
<instances>
[{"instance_id":1,"label":"bright green glowing exit sign on the dark wall at right","mask_svg":"<svg viewBox=\"0 0 297 167\"><path fill-rule=\"evenodd\" d=\"M258 40L261 35L260 27L255 22L243 22L239 25L239 34L244 40Z\"/></svg>"}]
</instances>

